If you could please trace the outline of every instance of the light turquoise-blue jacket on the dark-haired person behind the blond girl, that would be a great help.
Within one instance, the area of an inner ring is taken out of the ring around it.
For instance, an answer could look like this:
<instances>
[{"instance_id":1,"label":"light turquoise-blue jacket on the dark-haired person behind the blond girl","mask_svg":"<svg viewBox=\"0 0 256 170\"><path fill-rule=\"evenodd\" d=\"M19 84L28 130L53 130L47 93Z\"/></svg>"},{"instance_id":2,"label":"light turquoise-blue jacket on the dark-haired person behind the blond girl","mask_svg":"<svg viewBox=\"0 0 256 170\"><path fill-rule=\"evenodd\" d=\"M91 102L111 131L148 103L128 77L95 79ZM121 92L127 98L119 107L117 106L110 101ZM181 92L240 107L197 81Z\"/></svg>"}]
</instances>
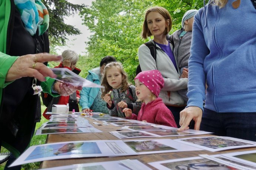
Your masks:
<instances>
[{"instance_id":1,"label":"light turquoise-blue jacket on the dark-haired person behind the blond girl","mask_svg":"<svg viewBox=\"0 0 256 170\"><path fill-rule=\"evenodd\" d=\"M89 74L86 77L87 80L92 81L96 84L101 84L101 80L99 77L100 67L94 68L88 71ZM97 97L100 88L91 88L91 87L83 87L80 92L80 100L79 104L82 107L82 110L85 108L90 108L93 104L94 99Z\"/></svg>"}]
</instances>

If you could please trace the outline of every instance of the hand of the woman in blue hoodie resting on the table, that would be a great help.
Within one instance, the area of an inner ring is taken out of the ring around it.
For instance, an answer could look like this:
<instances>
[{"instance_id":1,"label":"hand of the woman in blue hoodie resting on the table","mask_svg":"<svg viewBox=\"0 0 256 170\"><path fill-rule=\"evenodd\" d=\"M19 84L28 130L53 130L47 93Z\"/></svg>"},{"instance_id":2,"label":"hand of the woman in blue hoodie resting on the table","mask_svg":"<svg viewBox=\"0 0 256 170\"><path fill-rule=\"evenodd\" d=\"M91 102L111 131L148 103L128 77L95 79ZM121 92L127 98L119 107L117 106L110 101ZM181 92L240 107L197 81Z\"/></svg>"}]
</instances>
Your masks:
<instances>
[{"instance_id":1,"label":"hand of the woman in blue hoodie resting on the table","mask_svg":"<svg viewBox=\"0 0 256 170\"><path fill-rule=\"evenodd\" d=\"M190 121L195 121L195 130L200 129L203 111L200 107L190 106L180 112L180 128L177 131L189 129Z\"/></svg>"}]
</instances>

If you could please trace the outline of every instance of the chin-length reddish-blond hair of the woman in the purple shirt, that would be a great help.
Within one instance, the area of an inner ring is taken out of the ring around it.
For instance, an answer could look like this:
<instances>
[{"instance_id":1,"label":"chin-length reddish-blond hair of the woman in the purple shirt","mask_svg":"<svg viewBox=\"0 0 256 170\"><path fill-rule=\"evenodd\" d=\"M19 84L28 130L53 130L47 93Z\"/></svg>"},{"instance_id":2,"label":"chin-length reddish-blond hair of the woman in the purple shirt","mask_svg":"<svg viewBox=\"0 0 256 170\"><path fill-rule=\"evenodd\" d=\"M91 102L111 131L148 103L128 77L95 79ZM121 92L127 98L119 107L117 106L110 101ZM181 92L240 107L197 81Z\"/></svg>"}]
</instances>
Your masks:
<instances>
[{"instance_id":1,"label":"chin-length reddish-blond hair of the woman in the purple shirt","mask_svg":"<svg viewBox=\"0 0 256 170\"><path fill-rule=\"evenodd\" d=\"M149 8L145 13L145 18L144 18L143 28L142 28L142 38L146 39L147 37L150 37L152 35L149 30L149 27L147 27L147 15L150 12L157 12L164 17L165 21L167 20L170 21L168 27L164 31L164 35L167 35L172 29L172 17L170 13L163 7L152 7L152 8Z\"/></svg>"}]
</instances>

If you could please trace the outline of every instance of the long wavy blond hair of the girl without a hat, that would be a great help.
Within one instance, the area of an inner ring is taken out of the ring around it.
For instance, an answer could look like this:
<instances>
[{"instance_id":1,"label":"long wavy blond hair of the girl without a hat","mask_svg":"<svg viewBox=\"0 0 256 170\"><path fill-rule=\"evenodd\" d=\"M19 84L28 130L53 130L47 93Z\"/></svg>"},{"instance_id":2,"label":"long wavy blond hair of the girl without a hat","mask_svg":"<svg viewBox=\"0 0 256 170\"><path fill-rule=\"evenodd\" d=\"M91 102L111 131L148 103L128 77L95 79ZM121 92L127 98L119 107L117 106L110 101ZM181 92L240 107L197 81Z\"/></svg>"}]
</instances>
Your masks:
<instances>
[{"instance_id":1,"label":"long wavy blond hair of the girl without a hat","mask_svg":"<svg viewBox=\"0 0 256 170\"><path fill-rule=\"evenodd\" d=\"M122 63L119 63L119 62L108 63L105 66L104 72L103 72L102 86L104 86L105 89L102 89L102 98L105 96L105 94L107 94L112 89L112 87L107 82L107 74L106 74L107 70L109 70L111 68L119 69L120 73L122 74L122 83L121 83L122 85L121 85L120 92L126 91L129 88L129 86L131 85L128 83L127 74L126 74L126 72L124 72Z\"/></svg>"}]
</instances>

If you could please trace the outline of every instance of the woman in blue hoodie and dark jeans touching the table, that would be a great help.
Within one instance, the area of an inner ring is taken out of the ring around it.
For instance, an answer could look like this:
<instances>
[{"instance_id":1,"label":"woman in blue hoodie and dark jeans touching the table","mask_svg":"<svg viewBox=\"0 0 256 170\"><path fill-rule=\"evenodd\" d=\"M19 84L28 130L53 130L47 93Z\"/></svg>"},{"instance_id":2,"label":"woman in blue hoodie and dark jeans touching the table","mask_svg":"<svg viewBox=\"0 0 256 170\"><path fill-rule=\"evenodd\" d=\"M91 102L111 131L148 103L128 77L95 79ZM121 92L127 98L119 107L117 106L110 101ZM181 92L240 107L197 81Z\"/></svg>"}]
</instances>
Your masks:
<instances>
[{"instance_id":1,"label":"woman in blue hoodie and dark jeans touching the table","mask_svg":"<svg viewBox=\"0 0 256 170\"><path fill-rule=\"evenodd\" d=\"M255 18L253 0L210 0L195 15L179 131L194 119L197 130L256 141Z\"/></svg>"}]
</instances>

